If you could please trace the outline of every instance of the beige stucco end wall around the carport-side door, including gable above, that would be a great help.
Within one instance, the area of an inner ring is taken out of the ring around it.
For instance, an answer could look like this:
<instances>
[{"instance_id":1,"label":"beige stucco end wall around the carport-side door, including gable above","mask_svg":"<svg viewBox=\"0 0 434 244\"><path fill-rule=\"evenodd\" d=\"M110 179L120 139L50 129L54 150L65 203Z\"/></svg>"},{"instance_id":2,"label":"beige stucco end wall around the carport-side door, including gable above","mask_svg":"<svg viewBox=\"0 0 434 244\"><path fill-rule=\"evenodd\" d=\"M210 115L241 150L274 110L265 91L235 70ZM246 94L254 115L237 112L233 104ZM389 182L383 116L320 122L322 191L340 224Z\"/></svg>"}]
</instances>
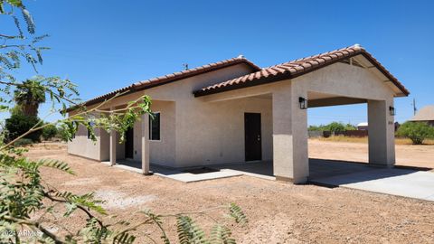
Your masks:
<instances>
[{"instance_id":1,"label":"beige stucco end wall around the carport-side door, including gable above","mask_svg":"<svg viewBox=\"0 0 434 244\"><path fill-rule=\"evenodd\" d=\"M249 72L245 66L237 65L167 84L161 89L146 90L146 94L153 99L175 101L175 164L171 166L243 162L244 112L261 113L263 159L271 159L271 100L206 103L193 96L193 90L204 85ZM162 127L162 133L164 129ZM156 162L156 144L150 143L151 164Z\"/></svg>"}]
</instances>

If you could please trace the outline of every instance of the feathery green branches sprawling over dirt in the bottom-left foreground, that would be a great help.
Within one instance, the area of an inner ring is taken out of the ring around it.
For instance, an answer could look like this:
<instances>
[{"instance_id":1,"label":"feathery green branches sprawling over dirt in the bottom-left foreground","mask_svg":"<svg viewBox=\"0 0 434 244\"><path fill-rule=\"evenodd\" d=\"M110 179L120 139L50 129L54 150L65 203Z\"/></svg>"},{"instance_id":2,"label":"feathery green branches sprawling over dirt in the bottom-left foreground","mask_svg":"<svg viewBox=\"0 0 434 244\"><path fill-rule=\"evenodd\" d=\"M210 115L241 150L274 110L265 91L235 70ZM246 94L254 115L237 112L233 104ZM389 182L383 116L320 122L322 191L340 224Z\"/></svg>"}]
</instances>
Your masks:
<instances>
[{"instance_id":1,"label":"feathery green branches sprawling over dirt in the bottom-left foreground","mask_svg":"<svg viewBox=\"0 0 434 244\"><path fill-rule=\"evenodd\" d=\"M116 221L110 218L110 223L103 221L109 213L100 206L100 201L93 193L77 195L72 192L61 192L44 183L41 167L51 167L65 174L74 174L68 164L56 160L31 161L23 156L22 150L14 149L16 155L0 154L1 198L0 198L0 242L38 241L42 243L133 243L137 237L132 231L148 228L154 225L159 230L159 236L164 243L171 243L165 230L164 220L176 219L177 239L174 243L235 243L231 238L228 226L216 223L209 235L188 215L205 215L207 211L190 212L187 214L161 215L151 211L141 211L143 219L134 225L127 221ZM44 202L45 200L45 202ZM48 202L47 202L48 201ZM64 208L60 209L59 206ZM241 208L234 203L222 206L228 211L228 216L238 224L245 224L247 218ZM83 227L77 232L71 232L67 226L57 225L69 234L57 236L45 227L56 223L59 219L70 218L76 211L86 214ZM51 218L45 218L50 215ZM36 218L34 218L36 216ZM57 217L56 216L60 216ZM33 217L33 218L32 218ZM114 221L114 222L113 222ZM21 237L23 230L33 231L28 237ZM141 237L157 242L155 234L140 231Z\"/></svg>"}]
</instances>

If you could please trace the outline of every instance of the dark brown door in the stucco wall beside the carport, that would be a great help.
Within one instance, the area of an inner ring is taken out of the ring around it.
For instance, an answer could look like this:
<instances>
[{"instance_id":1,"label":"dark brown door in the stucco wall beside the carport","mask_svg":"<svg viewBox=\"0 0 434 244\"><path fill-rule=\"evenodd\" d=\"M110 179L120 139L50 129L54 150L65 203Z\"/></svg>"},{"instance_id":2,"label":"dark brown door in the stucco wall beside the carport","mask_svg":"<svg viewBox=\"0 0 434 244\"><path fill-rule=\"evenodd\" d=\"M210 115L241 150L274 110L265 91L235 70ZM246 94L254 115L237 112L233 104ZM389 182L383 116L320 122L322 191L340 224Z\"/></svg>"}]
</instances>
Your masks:
<instances>
[{"instance_id":1,"label":"dark brown door in the stucco wall beside the carport","mask_svg":"<svg viewBox=\"0 0 434 244\"><path fill-rule=\"evenodd\" d=\"M246 161L262 160L259 113L244 113L244 134Z\"/></svg>"}]
</instances>

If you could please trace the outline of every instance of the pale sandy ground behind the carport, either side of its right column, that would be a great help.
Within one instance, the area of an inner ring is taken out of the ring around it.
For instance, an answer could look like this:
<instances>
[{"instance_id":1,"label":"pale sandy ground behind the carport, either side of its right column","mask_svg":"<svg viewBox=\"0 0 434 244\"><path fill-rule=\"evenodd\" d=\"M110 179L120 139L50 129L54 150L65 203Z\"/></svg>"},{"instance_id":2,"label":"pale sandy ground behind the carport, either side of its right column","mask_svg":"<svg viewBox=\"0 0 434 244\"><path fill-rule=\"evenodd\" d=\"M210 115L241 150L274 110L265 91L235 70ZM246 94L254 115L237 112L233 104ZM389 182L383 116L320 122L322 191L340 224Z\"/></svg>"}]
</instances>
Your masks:
<instances>
[{"instance_id":1,"label":"pale sandy ground behind the carport, either side of its right column","mask_svg":"<svg viewBox=\"0 0 434 244\"><path fill-rule=\"evenodd\" d=\"M395 145L396 164L434 169L434 145ZM368 162L368 145L309 140L309 157Z\"/></svg>"}]
</instances>

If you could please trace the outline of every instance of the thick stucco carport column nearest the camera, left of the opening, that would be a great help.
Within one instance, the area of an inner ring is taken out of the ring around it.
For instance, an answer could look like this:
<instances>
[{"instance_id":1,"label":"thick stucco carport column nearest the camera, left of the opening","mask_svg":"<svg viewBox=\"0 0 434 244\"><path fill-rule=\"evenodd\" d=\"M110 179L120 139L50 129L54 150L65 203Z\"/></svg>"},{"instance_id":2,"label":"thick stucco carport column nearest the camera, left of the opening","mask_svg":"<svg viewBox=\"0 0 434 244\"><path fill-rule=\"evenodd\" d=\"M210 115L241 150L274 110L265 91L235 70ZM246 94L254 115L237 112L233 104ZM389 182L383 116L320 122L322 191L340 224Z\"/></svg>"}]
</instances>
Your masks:
<instances>
[{"instance_id":1,"label":"thick stucco carport column nearest the camera, left of the opening","mask_svg":"<svg viewBox=\"0 0 434 244\"><path fill-rule=\"evenodd\" d=\"M298 98L307 92L287 84L273 92L273 170L277 180L306 183L307 109L300 109Z\"/></svg>"}]
</instances>

